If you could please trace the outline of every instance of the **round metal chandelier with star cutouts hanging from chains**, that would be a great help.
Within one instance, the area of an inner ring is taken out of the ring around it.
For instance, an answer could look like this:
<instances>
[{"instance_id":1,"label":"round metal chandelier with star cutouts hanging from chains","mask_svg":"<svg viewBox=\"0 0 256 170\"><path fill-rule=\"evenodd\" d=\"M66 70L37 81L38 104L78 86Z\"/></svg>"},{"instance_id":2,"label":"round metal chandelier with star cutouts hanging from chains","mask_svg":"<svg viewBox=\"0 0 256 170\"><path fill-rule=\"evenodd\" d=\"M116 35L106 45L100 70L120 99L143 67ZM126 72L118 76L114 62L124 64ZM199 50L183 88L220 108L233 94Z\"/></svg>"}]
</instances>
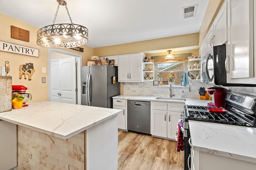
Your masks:
<instances>
[{"instance_id":1,"label":"round metal chandelier with star cutouts hanging from chains","mask_svg":"<svg viewBox=\"0 0 256 170\"><path fill-rule=\"evenodd\" d=\"M57 2L59 5L52 25L42 27L37 31L36 43L48 48L73 48L86 44L88 29L72 22L65 0L57 0ZM66 7L71 23L55 24L60 5Z\"/></svg>"}]
</instances>

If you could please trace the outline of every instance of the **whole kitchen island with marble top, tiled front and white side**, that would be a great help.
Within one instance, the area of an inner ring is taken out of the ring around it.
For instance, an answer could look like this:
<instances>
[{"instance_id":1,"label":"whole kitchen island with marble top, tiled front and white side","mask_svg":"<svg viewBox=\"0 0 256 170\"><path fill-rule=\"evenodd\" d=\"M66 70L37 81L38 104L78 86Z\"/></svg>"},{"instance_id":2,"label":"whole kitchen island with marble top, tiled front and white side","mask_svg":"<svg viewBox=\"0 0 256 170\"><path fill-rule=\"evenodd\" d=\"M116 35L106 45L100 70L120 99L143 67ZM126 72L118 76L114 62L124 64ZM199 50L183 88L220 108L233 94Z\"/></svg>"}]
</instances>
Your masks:
<instances>
[{"instance_id":1,"label":"whole kitchen island with marble top, tiled front and white side","mask_svg":"<svg viewBox=\"0 0 256 170\"><path fill-rule=\"evenodd\" d=\"M0 113L0 119L18 125L17 169L114 170L121 112L47 101Z\"/></svg>"}]
</instances>

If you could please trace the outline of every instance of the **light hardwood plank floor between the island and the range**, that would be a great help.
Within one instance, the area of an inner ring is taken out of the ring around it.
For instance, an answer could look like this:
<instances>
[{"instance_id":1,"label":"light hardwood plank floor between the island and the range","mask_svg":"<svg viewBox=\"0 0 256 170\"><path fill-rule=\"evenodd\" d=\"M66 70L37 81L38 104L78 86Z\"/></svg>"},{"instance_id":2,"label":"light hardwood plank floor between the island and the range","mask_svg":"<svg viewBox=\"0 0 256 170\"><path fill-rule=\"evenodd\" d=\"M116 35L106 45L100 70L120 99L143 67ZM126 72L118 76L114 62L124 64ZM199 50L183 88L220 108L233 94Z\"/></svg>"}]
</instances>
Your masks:
<instances>
[{"instance_id":1,"label":"light hardwood plank floor between the island and the range","mask_svg":"<svg viewBox=\"0 0 256 170\"><path fill-rule=\"evenodd\" d=\"M183 170L176 141L118 131L118 170Z\"/></svg>"}]
</instances>

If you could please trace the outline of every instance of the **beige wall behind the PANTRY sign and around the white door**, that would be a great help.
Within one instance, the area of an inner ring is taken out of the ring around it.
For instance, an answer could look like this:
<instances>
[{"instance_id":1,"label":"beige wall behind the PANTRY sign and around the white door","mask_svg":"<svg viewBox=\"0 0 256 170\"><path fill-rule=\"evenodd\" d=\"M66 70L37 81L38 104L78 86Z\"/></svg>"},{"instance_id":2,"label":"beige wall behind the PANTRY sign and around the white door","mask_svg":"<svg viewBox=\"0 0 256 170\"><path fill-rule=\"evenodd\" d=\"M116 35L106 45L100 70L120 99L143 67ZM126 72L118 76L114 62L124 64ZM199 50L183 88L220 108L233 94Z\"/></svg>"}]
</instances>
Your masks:
<instances>
[{"instance_id":1,"label":"beige wall behind the PANTRY sign and around the white door","mask_svg":"<svg viewBox=\"0 0 256 170\"><path fill-rule=\"evenodd\" d=\"M32 101L30 102L40 102L48 100L48 48L40 47L36 44L36 32L38 31L37 27L24 23L22 21L10 18L3 14L0 14L0 41L14 43L17 45L23 45L26 47L32 47L39 49L39 57L31 57L26 55L19 55L14 53L7 53L0 51L0 66L4 66L5 61L9 61L10 72L8 75L12 76L13 85L23 85L28 87L27 93L32 94ZM11 38L11 25L16 27L26 29L30 31L30 41L21 41L18 39ZM2 48L2 47L0 47ZM87 60L90 59L90 56L93 55L93 49L87 46L82 46L84 48L84 53L72 50L64 49L72 53L81 54L82 64L87 65ZM19 79L19 66L21 64L33 63L35 72L32 75L32 80ZM46 67L46 73L42 73L42 67ZM46 83L42 82L42 77L46 77ZM29 104L29 102L28 102Z\"/></svg>"}]
</instances>

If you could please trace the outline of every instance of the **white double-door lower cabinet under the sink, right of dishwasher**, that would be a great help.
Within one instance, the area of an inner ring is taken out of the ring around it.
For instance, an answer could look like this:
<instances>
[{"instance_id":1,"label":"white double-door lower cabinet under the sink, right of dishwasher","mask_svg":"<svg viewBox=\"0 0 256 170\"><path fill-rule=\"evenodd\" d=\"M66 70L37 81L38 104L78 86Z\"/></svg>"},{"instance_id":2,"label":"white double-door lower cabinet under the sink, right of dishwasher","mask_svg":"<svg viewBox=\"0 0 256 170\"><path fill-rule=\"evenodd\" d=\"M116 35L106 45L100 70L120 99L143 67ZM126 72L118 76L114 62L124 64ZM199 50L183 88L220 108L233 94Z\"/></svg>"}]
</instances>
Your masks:
<instances>
[{"instance_id":1,"label":"white double-door lower cabinet under the sink, right of dishwasher","mask_svg":"<svg viewBox=\"0 0 256 170\"><path fill-rule=\"evenodd\" d=\"M184 108L184 105L184 102L151 102L151 134L156 137L175 140L180 110Z\"/></svg>"}]
</instances>

